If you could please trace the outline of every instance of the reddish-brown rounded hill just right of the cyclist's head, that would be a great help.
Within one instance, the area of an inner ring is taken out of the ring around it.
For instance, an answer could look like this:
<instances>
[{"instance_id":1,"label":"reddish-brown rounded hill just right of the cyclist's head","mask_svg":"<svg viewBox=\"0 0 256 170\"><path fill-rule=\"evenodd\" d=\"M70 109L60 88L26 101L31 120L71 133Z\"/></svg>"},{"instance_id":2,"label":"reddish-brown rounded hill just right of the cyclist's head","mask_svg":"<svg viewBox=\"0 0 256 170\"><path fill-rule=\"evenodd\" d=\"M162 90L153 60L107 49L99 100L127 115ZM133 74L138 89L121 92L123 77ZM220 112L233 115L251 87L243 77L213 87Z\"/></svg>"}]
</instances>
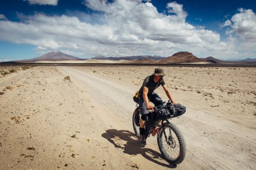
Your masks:
<instances>
[{"instance_id":1,"label":"reddish-brown rounded hill just right of the cyclist's head","mask_svg":"<svg viewBox=\"0 0 256 170\"><path fill-rule=\"evenodd\" d=\"M189 52L178 52L173 54L170 57L167 57L165 59L161 59L157 61L157 63L195 63L195 62L204 62L207 63L207 61L197 58L195 55Z\"/></svg>"}]
</instances>

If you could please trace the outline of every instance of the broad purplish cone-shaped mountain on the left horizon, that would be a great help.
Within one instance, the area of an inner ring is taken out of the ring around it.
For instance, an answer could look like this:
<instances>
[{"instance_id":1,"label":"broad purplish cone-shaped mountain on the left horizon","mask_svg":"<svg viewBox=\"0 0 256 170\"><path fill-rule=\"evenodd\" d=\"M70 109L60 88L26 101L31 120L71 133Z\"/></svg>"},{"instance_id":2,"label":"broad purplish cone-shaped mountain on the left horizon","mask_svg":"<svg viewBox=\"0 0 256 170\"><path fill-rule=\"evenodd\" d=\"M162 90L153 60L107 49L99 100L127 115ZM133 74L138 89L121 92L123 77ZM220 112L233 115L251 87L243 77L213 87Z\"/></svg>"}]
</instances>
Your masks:
<instances>
[{"instance_id":1,"label":"broad purplish cone-shaped mountain on the left horizon","mask_svg":"<svg viewBox=\"0 0 256 170\"><path fill-rule=\"evenodd\" d=\"M44 60L44 61L59 61L59 60L70 60L70 59L80 60L82 58L74 57L72 55L67 55L67 54L64 54L64 53L58 51L58 52L47 53L45 55L42 55L41 57L35 57L35 58L31 58L31 59L21 60L19 62L37 62L37 61L42 61L42 60Z\"/></svg>"}]
</instances>

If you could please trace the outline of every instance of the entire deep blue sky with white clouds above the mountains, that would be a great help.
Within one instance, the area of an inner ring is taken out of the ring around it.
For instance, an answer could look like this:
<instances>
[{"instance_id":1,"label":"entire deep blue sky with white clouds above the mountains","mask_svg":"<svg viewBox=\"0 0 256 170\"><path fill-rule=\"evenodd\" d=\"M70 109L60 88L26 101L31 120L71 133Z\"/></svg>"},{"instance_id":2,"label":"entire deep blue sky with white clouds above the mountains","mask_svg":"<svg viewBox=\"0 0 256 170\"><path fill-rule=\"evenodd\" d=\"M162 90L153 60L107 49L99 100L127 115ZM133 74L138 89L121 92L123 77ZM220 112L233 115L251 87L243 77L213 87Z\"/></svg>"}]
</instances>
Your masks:
<instances>
[{"instance_id":1,"label":"entire deep blue sky with white clouds above the mountains","mask_svg":"<svg viewBox=\"0 0 256 170\"><path fill-rule=\"evenodd\" d=\"M251 0L8 0L0 5L0 59L51 51L256 58L255 12Z\"/></svg>"}]
</instances>

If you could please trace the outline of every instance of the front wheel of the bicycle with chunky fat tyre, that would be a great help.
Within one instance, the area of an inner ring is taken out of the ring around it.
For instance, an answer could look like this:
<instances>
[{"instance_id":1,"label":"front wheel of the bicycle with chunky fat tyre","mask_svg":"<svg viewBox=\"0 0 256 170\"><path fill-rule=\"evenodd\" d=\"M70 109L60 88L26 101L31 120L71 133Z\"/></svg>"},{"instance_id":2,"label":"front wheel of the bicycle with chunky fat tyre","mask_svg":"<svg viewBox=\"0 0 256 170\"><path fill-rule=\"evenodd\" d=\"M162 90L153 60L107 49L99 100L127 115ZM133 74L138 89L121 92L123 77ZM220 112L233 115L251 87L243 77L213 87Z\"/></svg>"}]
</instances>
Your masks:
<instances>
[{"instance_id":1,"label":"front wheel of the bicycle with chunky fat tyre","mask_svg":"<svg viewBox=\"0 0 256 170\"><path fill-rule=\"evenodd\" d=\"M161 126L159 128L157 134L159 150L167 162L179 164L184 160L186 155L184 137L180 130L172 123L164 123L163 127Z\"/></svg>"}]
</instances>

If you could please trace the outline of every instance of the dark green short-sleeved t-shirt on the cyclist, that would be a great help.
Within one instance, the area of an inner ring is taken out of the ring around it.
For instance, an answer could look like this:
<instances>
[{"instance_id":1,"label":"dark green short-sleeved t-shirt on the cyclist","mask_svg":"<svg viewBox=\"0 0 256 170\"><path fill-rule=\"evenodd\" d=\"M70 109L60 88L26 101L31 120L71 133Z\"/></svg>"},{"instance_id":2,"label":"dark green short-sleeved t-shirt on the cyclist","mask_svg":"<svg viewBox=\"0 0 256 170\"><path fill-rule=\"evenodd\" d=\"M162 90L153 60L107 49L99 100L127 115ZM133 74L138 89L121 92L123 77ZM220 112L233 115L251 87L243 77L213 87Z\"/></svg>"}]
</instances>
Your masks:
<instances>
[{"instance_id":1,"label":"dark green short-sleeved t-shirt on the cyclist","mask_svg":"<svg viewBox=\"0 0 256 170\"><path fill-rule=\"evenodd\" d=\"M139 90L139 95L142 96L143 94L143 88L146 86L148 88L148 95L152 94L156 88L158 88L160 85L165 85L165 81L154 82L154 75L148 76L144 79L143 84Z\"/></svg>"}]
</instances>

